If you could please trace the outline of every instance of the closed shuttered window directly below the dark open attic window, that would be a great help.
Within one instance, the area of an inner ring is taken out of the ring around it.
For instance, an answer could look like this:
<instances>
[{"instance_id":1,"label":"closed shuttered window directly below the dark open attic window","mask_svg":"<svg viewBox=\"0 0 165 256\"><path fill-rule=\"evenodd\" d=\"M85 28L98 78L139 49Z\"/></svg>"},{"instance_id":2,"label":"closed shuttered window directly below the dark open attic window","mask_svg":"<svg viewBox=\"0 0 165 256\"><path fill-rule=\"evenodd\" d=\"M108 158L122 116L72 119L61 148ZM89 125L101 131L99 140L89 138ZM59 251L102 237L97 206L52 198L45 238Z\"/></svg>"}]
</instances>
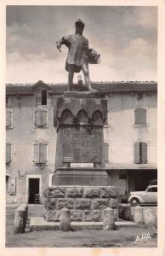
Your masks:
<instances>
[{"instance_id":1,"label":"closed shuttered window directly below the dark open attic window","mask_svg":"<svg viewBox=\"0 0 165 256\"><path fill-rule=\"evenodd\" d=\"M34 112L34 124L36 126L47 126L48 125L48 119L47 119L47 109L41 109L38 108Z\"/></svg>"}]
</instances>

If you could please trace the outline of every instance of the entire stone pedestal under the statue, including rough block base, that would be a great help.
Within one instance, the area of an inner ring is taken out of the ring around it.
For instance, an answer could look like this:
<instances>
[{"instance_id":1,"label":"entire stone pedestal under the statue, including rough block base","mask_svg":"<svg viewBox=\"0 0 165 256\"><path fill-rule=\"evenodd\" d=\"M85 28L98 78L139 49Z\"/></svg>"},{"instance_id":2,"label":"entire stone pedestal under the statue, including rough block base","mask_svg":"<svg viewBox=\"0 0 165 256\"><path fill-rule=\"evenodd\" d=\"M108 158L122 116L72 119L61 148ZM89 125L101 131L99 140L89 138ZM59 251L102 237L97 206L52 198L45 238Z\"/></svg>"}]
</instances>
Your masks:
<instances>
[{"instance_id":1,"label":"entire stone pedestal under the statue, including rough block base","mask_svg":"<svg viewBox=\"0 0 165 256\"><path fill-rule=\"evenodd\" d=\"M60 209L71 211L71 221L104 221L104 209L118 218L118 191L105 172L108 147L103 126L107 102L91 92L65 92L54 108L57 131L54 186L44 191L44 218L59 221Z\"/></svg>"}]
</instances>

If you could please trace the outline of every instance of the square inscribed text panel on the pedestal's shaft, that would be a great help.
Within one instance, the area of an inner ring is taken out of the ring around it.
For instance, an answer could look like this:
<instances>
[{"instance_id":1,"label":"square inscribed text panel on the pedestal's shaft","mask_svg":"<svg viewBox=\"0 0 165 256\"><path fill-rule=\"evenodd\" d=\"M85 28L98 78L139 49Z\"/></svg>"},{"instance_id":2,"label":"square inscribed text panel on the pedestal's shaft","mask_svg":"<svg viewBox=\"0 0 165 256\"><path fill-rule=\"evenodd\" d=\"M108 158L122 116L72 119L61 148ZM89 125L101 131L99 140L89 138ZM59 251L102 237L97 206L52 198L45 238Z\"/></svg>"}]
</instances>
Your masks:
<instances>
[{"instance_id":1,"label":"square inscribed text panel on the pedestal's shaft","mask_svg":"<svg viewBox=\"0 0 165 256\"><path fill-rule=\"evenodd\" d=\"M93 131L64 131L65 163L100 163L101 133Z\"/></svg>"}]
</instances>

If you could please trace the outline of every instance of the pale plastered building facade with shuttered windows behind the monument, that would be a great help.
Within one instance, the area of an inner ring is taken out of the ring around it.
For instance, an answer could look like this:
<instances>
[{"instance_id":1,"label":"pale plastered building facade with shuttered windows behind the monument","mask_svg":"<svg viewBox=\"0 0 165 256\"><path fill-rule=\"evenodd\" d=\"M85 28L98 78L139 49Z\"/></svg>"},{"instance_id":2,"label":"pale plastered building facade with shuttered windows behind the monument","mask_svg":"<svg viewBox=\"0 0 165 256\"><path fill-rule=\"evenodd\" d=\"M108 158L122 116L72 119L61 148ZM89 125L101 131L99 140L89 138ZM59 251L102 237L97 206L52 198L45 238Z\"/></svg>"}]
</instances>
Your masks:
<instances>
[{"instance_id":1,"label":"pale plastered building facade with shuttered windows behind the monument","mask_svg":"<svg viewBox=\"0 0 165 256\"><path fill-rule=\"evenodd\" d=\"M133 190L156 179L155 82L104 82L92 84L107 100L103 127L104 166L109 184L126 202ZM75 84L78 90L80 84ZM6 86L6 201L35 203L52 184L58 145L54 127L57 97L66 84L7 84ZM81 165L80 165L81 166ZM83 164L84 166L84 164ZM88 165L87 165L88 166Z\"/></svg>"}]
</instances>

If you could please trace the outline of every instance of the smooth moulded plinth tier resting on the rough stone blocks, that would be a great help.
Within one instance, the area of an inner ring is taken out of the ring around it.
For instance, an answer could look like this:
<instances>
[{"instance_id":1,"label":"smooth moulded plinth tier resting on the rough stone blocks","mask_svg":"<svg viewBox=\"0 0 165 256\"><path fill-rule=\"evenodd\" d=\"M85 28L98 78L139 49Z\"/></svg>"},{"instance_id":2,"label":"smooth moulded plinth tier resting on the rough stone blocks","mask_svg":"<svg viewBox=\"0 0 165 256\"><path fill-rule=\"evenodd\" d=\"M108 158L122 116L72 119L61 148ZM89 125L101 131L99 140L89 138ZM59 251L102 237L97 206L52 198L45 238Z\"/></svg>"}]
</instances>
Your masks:
<instances>
[{"instance_id":1,"label":"smooth moulded plinth tier resting on the rough stone blocks","mask_svg":"<svg viewBox=\"0 0 165 256\"><path fill-rule=\"evenodd\" d=\"M52 184L55 186L108 186L109 176L101 168L59 167L54 172Z\"/></svg>"}]
</instances>

